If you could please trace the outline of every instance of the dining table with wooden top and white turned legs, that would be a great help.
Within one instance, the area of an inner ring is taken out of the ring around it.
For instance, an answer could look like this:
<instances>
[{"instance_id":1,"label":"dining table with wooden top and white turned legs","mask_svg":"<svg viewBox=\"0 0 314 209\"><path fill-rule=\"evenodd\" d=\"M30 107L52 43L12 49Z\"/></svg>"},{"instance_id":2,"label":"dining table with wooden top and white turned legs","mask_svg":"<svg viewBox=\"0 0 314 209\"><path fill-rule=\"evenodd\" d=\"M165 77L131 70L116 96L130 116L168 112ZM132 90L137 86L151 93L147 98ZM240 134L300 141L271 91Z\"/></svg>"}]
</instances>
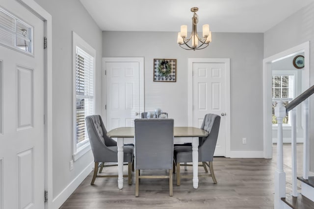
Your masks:
<instances>
[{"instance_id":1,"label":"dining table with wooden top and white turned legs","mask_svg":"<svg viewBox=\"0 0 314 209\"><path fill-rule=\"evenodd\" d=\"M119 127L107 135L117 139L118 147L118 188L123 188L123 146L134 143L134 127ZM192 143L193 187L198 188L198 145L199 137L207 137L208 132L196 127L174 127L174 143ZM136 147L135 147L136 149ZM135 157L136 159L136 157Z\"/></svg>"}]
</instances>

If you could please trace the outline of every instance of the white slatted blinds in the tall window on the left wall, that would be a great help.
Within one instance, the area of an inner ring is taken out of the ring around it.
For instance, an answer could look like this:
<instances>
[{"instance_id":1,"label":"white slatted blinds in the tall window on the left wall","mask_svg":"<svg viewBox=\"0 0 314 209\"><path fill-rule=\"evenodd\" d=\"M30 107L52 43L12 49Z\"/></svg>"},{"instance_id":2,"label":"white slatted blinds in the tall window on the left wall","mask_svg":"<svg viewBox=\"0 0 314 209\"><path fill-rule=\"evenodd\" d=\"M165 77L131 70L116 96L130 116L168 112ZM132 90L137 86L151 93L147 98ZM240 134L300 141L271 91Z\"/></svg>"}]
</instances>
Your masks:
<instances>
[{"instance_id":1,"label":"white slatted blinds in the tall window on the left wall","mask_svg":"<svg viewBox=\"0 0 314 209\"><path fill-rule=\"evenodd\" d=\"M94 57L76 47L76 142L88 139L85 117L94 114Z\"/></svg>"}]
</instances>

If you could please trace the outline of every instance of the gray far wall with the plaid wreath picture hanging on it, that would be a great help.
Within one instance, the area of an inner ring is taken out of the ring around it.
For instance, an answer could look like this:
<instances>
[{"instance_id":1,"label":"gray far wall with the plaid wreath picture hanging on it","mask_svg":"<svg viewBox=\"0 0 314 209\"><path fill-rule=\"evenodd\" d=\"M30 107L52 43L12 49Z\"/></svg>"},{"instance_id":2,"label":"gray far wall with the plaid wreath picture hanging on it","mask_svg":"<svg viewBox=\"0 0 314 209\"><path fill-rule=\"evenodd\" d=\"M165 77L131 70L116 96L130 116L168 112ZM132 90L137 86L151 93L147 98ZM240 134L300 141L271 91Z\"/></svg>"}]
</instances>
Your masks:
<instances>
[{"instance_id":1,"label":"gray far wall with the plaid wreath picture hanging on it","mask_svg":"<svg viewBox=\"0 0 314 209\"><path fill-rule=\"evenodd\" d=\"M212 43L198 51L184 50L176 41L176 32L103 31L103 57L144 57L145 108L158 105L176 126L188 122L188 58L230 58L231 150L262 151L263 117L256 110L262 110L263 34L213 33ZM177 59L176 83L153 82L154 58ZM242 144L243 137L247 144Z\"/></svg>"}]
</instances>

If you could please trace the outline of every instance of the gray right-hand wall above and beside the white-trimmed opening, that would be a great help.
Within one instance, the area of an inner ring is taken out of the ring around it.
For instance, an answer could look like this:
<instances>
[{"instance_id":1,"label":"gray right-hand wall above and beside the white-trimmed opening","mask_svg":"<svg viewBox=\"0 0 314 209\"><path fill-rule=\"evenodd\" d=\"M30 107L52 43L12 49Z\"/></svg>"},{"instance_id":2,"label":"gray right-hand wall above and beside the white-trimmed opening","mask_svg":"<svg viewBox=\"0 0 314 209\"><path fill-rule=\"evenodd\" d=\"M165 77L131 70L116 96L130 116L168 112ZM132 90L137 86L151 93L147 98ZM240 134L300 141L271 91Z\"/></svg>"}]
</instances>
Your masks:
<instances>
[{"instance_id":1,"label":"gray right-hand wall above and beside the white-trimmed opening","mask_svg":"<svg viewBox=\"0 0 314 209\"><path fill-rule=\"evenodd\" d=\"M283 22L264 33L264 58L310 41L310 54L314 51L314 3L304 7ZM314 85L314 58L310 57L310 86ZM310 97L310 110L314 110L314 95ZM310 113L311 158L314 159L314 115ZM311 161L314 171L314 160Z\"/></svg>"}]
</instances>

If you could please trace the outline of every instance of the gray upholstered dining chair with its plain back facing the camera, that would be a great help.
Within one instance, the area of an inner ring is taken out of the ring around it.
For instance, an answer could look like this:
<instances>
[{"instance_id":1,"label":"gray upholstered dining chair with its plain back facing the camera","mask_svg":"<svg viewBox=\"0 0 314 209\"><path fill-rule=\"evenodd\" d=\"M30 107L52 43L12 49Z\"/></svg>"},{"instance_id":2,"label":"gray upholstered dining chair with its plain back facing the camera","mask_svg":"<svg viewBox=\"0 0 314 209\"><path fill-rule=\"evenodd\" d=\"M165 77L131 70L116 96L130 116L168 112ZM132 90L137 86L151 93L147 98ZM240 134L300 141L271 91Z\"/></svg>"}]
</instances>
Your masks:
<instances>
[{"instance_id":1,"label":"gray upholstered dining chair with its plain back facing the camera","mask_svg":"<svg viewBox=\"0 0 314 209\"><path fill-rule=\"evenodd\" d=\"M169 195L173 195L173 119L135 119L135 197L139 179L169 179ZM164 169L169 175L142 175L142 170ZM141 170L141 175L140 175Z\"/></svg>"}]
</instances>

